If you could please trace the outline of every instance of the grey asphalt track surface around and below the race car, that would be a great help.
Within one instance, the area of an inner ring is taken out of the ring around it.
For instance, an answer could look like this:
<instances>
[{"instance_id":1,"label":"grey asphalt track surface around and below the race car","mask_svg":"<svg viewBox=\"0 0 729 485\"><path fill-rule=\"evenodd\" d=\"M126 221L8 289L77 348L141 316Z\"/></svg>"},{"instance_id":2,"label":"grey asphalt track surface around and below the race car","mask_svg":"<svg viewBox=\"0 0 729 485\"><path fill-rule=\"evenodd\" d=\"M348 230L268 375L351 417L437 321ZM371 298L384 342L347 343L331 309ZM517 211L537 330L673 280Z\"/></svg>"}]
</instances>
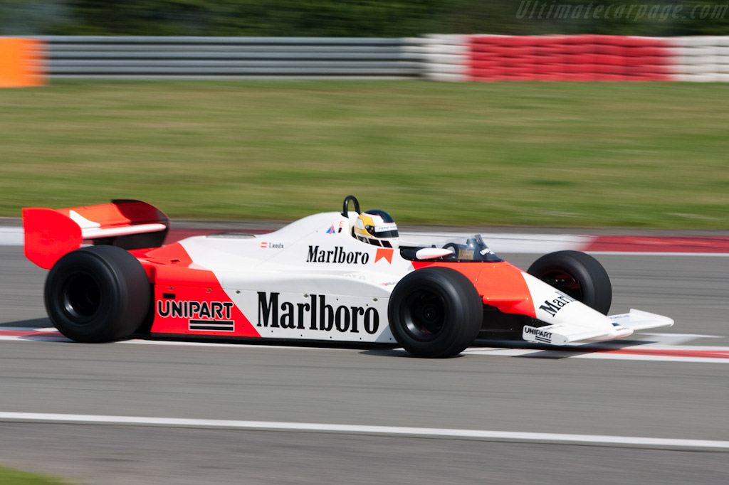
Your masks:
<instances>
[{"instance_id":1,"label":"grey asphalt track surface around and below the race car","mask_svg":"<svg viewBox=\"0 0 729 485\"><path fill-rule=\"evenodd\" d=\"M537 258L501 256L521 267ZM676 320L621 348L729 347L729 258L598 258L612 277L611 313ZM0 247L0 328L50 326L44 275L22 248ZM400 350L0 340L0 411L729 440L726 360L504 355L479 344L421 360ZM100 485L729 481L729 452L718 449L70 422L0 422L0 463Z\"/></svg>"}]
</instances>

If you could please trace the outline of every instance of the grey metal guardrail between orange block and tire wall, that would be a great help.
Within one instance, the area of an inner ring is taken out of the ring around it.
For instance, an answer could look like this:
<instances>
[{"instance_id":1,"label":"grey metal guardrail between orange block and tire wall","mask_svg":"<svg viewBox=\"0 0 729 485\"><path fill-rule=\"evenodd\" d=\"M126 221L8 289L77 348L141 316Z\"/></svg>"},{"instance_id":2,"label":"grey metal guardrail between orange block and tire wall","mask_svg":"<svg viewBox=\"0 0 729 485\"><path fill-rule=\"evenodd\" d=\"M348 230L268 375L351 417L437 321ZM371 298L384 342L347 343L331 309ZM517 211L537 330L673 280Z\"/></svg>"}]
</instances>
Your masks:
<instances>
[{"instance_id":1,"label":"grey metal guardrail between orange block and tire wall","mask_svg":"<svg viewBox=\"0 0 729 485\"><path fill-rule=\"evenodd\" d=\"M51 78L271 79L421 76L422 39L44 36Z\"/></svg>"}]
</instances>

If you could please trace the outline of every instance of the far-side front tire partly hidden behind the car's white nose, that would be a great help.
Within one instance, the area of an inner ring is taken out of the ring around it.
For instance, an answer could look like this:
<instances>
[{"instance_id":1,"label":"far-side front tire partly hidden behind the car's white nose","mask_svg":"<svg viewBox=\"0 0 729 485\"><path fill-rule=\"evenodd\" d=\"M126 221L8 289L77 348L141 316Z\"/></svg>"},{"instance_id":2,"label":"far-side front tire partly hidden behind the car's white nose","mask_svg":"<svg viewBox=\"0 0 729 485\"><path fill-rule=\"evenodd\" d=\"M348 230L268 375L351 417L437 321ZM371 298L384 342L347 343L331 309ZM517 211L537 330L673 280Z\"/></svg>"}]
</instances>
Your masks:
<instances>
[{"instance_id":1,"label":"far-side front tire partly hidden behind the car's white nose","mask_svg":"<svg viewBox=\"0 0 729 485\"><path fill-rule=\"evenodd\" d=\"M580 251L557 251L534 261L527 272L607 315L612 285L599 261Z\"/></svg>"}]
</instances>

